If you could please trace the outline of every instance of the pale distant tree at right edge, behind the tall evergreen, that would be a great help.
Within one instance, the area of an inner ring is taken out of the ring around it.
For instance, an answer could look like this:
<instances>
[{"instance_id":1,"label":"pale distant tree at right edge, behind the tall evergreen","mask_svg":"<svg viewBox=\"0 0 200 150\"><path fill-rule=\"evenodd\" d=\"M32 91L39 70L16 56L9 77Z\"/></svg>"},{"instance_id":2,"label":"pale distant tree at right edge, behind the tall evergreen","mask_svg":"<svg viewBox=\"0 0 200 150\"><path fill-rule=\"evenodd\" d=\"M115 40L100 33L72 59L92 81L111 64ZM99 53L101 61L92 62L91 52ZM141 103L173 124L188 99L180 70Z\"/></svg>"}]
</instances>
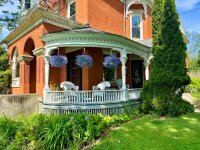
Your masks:
<instances>
[{"instance_id":1,"label":"pale distant tree at right edge, behind the tall evergreen","mask_svg":"<svg viewBox=\"0 0 200 150\"><path fill-rule=\"evenodd\" d=\"M188 69L200 70L200 34L196 32L187 33L188 44Z\"/></svg>"}]
</instances>

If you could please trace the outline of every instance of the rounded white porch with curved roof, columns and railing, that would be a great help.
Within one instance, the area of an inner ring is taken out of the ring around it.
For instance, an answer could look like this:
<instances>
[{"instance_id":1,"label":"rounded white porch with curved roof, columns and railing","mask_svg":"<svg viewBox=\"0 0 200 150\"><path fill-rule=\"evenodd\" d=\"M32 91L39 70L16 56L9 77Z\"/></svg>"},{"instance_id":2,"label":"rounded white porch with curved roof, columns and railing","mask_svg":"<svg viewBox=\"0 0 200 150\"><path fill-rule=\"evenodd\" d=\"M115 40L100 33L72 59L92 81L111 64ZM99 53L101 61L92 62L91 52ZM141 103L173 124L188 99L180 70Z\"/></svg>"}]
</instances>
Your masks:
<instances>
[{"instance_id":1,"label":"rounded white porch with curved roof, columns and railing","mask_svg":"<svg viewBox=\"0 0 200 150\"><path fill-rule=\"evenodd\" d=\"M93 29L53 33L44 35L42 40L46 45L43 108L48 113L88 112L110 115L123 113L126 108L139 104L142 85L144 80L149 78L151 48L123 36ZM62 77L63 75L67 76L64 81L73 82L80 87L80 91L51 91L50 82L54 78L51 74L53 69L50 67L49 58L53 53L55 54L55 49L58 48L64 50L61 53L70 58L70 63L67 64L67 68L61 68L57 74L61 73ZM85 51L95 58L94 65L91 69L81 68L74 71L76 78L72 79L73 57L76 54L84 54ZM97 83L108 81L103 72L102 62L107 51L112 51L120 58L121 65L113 73L116 77L113 77L111 82L117 83L118 80L121 80L121 86L106 90L92 90L91 87ZM134 66L135 63L138 64ZM132 79L134 78L133 70L140 74L140 83L138 80ZM66 71L67 73L65 73ZM81 76L78 75L79 73ZM134 85L133 81L137 81L139 84Z\"/></svg>"}]
</instances>

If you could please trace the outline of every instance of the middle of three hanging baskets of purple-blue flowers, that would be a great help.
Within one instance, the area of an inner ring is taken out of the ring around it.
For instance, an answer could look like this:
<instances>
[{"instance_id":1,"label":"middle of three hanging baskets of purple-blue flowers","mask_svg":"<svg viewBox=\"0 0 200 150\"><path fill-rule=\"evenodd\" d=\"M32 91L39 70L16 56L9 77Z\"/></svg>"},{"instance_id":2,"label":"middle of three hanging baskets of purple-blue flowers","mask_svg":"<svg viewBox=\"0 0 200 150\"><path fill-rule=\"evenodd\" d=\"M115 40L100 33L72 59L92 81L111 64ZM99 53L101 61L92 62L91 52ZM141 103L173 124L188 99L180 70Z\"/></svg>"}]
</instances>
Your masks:
<instances>
[{"instance_id":1,"label":"middle of three hanging baskets of purple-blue flowers","mask_svg":"<svg viewBox=\"0 0 200 150\"><path fill-rule=\"evenodd\" d=\"M93 59L90 55L78 55L76 56L76 65L79 67L91 67L93 64Z\"/></svg>"}]
</instances>

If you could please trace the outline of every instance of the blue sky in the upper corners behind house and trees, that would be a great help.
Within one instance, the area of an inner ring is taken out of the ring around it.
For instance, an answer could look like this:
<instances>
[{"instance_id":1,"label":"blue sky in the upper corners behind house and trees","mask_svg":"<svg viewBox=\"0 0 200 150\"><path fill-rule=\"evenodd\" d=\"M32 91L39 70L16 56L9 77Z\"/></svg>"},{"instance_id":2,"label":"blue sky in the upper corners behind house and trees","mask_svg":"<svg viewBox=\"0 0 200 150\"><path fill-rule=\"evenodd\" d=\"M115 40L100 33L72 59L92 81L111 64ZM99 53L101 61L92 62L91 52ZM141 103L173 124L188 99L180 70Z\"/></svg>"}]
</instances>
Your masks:
<instances>
[{"instance_id":1,"label":"blue sky in the upper corners behind house and trees","mask_svg":"<svg viewBox=\"0 0 200 150\"><path fill-rule=\"evenodd\" d=\"M200 33L200 0L176 0L177 10L181 15L184 27L186 31ZM10 10L15 12L19 5L18 0L15 0L15 6L5 5L1 10ZM0 11L0 16L2 16ZM0 38L4 38L9 34L9 31L4 27L3 35Z\"/></svg>"}]
</instances>

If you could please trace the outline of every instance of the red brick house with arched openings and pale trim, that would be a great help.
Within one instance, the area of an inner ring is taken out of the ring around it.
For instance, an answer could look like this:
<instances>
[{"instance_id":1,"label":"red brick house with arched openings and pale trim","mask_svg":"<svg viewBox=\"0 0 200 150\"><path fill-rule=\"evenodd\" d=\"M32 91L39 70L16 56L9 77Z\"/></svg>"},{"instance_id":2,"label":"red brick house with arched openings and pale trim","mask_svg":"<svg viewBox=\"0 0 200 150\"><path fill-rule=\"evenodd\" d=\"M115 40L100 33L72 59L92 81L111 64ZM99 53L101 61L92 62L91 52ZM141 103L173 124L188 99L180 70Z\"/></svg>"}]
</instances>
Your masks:
<instances>
[{"instance_id":1,"label":"red brick house with arched openings and pale trim","mask_svg":"<svg viewBox=\"0 0 200 150\"><path fill-rule=\"evenodd\" d=\"M12 93L37 93L45 100L51 85L63 81L73 82L81 91L92 90L104 80L116 90L117 81L125 91L142 88L149 78L152 57L152 3L21 0L20 25L4 39L11 62ZM61 68L49 64L49 57L58 49L69 60ZM92 56L92 67L77 67L74 62L78 54ZM120 57L121 65L107 70L103 59L111 54Z\"/></svg>"}]
</instances>

